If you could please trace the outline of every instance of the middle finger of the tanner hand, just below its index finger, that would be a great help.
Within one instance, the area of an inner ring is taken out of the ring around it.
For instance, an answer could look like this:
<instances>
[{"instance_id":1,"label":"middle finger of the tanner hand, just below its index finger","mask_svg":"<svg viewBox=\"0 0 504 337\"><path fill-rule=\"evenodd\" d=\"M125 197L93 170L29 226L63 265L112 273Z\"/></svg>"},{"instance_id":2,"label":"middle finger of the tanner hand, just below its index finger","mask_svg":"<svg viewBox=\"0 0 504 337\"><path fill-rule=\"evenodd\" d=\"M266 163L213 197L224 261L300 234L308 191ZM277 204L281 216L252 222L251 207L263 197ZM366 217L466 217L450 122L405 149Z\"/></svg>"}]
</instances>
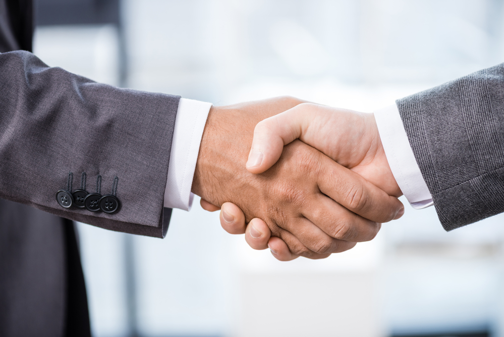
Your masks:
<instances>
[{"instance_id":1,"label":"middle finger of the tanner hand, just below its index finger","mask_svg":"<svg viewBox=\"0 0 504 337\"><path fill-rule=\"evenodd\" d=\"M373 239L381 224L364 219L334 200L320 194L317 207L310 207L303 215L329 236L350 242L364 242Z\"/></svg>"}]
</instances>

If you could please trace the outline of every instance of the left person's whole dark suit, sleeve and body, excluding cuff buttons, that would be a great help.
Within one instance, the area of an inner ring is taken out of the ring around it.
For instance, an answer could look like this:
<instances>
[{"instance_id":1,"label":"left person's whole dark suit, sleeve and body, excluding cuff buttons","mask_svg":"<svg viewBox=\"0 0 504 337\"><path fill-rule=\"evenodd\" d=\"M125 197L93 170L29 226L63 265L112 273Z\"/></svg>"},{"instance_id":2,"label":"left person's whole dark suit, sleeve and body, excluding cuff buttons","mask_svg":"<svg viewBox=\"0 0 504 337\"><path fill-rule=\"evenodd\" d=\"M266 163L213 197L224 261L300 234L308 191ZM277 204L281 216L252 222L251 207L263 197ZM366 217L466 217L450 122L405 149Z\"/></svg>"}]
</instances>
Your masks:
<instances>
[{"instance_id":1,"label":"left person's whole dark suit, sleeve and body, excluding cuff buttons","mask_svg":"<svg viewBox=\"0 0 504 337\"><path fill-rule=\"evenodd\" d=\"M32 3L0 0L0 336L89 336L73 222L163 237L180 97L95 83L31 54ZM25 49L27 51L22 51ZM119 212L62 208L56 192L109 194ZM69 220L70 219L70 220Z\"/></svg>"}]
</instances>

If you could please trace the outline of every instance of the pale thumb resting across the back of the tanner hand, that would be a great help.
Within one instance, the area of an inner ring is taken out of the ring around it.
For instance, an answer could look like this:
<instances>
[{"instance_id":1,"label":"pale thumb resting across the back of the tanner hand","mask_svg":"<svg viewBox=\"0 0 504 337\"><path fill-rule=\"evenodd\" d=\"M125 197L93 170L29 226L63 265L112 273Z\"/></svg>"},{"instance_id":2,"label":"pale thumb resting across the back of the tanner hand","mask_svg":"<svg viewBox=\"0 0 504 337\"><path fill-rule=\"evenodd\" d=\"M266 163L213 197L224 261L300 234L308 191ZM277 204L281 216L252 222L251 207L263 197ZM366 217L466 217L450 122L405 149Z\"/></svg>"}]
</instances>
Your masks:
<instances>
[{"instance_id":1,"label":"pale thumb resting across the back of the tanner hand","mask_svg":"<svg viewBox=\"0 0 504 337\"><path fill-rule=\"evenodd\" d=\"M269 169L282 155L284 146L301 137L308 123L308 114L302 113L305 104L257 123L246 164L249 172L258 174Z\"/></svg>"}]
</instances>

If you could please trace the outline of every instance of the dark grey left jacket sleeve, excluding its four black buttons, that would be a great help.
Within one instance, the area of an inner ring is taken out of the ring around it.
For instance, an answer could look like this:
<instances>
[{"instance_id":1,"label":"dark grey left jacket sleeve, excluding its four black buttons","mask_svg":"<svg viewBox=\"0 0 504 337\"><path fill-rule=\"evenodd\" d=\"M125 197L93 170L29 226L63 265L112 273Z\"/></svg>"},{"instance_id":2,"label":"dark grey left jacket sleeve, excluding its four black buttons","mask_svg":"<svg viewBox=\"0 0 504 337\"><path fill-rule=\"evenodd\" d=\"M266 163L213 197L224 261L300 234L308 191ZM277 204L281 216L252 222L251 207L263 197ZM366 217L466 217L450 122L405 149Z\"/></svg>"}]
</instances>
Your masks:
<instances>
[{"instance_id":1,"label":"dark grey left jacket sleeve, excluding its four black buttons","mask_svg":"<svg viewBox=\"0 0 504 337\"><path fill-rule=\"evenodd\" d=\"M99 84L34 55L0 54L0 198L99 227L163 237L163 211L180 97ZM118 177L119 212L62 208L56 192L110 194Z\"/></svg>"}]
</instances>

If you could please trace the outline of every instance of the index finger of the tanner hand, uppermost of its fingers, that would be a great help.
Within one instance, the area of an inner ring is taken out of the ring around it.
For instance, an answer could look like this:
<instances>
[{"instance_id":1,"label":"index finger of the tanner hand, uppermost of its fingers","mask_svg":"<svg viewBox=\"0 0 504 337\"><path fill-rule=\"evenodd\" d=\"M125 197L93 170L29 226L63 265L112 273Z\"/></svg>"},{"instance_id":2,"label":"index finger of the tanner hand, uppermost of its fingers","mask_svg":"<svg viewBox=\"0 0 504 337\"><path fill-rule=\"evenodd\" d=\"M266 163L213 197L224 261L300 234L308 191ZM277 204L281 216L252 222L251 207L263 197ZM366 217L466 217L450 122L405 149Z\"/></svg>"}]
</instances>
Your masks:
<instances>
[{"instance_id":1,"label":"index finger of the tanner hand, uppermost of its fingers","mask_svg":"<svg viewBox=\"0 0 504 337\"><path fill-rule=\"evenodd\" d=\"M404 212L403 204L387 195L357 173L323 157L318 177L320 191L360 216L375 222L388 222Z\"/></svg>"}]
</instances>

